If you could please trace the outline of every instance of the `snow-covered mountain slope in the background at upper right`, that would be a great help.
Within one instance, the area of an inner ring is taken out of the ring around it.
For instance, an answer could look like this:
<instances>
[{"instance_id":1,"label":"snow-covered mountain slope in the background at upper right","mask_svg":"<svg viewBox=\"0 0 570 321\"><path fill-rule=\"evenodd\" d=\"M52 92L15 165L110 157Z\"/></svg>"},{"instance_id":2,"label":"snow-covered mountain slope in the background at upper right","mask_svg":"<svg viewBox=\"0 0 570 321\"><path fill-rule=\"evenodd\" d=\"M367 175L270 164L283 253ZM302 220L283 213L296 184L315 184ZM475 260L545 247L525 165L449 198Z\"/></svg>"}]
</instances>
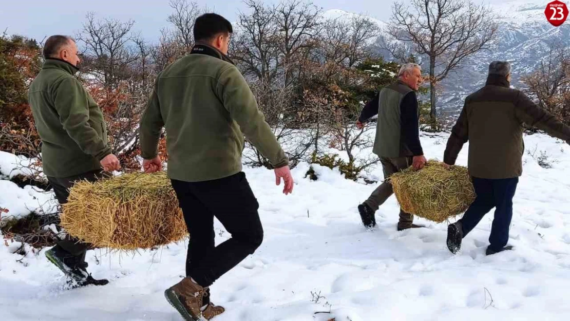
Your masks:
<instances>
[{"instance_id":1,"label":"snow-covered mountain slope in the background at upper right","mask_svg":"<svg viewBox=\"0 0 570 321\"><path fill-rule=\"evenodd\" d=\"M483 86L488 63L492 60L510 61L513 66L512 85L520 88L524 87L520 83L520 76L535 70L552 46L570 48L570 22L567 21L560 27L548 23L544 9L549 2L551 1L518 0L491 5L491 10L499 17L498 38L494 48L470 56L464 60L461 68L443 81L438 105L451 112L460 109L463 99ZM341 10L329 10L324 15L340 17L343 14L347 18L355 15ZM386 22L378 21L378 25L384 27ZM380 53L386 55L385 52ZM428 66L425 64L422 67L426 70Z\"/></svg>"}]
</instances>

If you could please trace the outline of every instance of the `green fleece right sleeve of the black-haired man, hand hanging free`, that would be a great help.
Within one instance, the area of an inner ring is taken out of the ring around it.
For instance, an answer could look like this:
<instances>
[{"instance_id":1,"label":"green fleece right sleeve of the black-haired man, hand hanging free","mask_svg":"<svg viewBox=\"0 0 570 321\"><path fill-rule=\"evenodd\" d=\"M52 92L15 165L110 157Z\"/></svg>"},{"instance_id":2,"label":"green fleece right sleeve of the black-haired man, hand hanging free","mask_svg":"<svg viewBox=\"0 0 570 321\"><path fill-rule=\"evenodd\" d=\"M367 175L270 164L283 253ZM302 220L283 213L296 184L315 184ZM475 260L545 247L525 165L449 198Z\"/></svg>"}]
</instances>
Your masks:
<instances>
[{"instance_id":1,"label":"green fleece right sleeve of the black-haired man, hand hanging free","mask_svg":"<svg viewBox=\"0 0 570 321\"><path fill-rule=\"evenodd\" d=\"M257 106L246 80L235 66L224 70L217 84L218 97L243 135L266 157L274 168L289 164L269 124Z\"/></svg>"}]
</instances>

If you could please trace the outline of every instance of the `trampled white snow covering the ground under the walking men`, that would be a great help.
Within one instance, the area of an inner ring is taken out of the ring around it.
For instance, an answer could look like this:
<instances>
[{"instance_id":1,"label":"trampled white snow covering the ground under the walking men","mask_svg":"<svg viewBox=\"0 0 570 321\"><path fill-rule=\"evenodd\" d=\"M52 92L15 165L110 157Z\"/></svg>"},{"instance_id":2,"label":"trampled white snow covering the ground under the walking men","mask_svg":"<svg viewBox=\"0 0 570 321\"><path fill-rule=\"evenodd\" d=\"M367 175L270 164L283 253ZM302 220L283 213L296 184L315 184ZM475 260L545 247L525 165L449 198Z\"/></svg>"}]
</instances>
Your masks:
<instances>
[{"instance_id":1,"label":"trampled white snow covering the ground under the walking men","mask_svg":"<svg viewBox=\"0 0 570 321\"><path fill-rule=\"evenodd\" d=\"M442 159L446 135L422 134L428 158ZM284 196L271 171L246 169L258 197L263 245L211 287L226 307L214 320L568 320L570 318L570 146L545 135L525 138L510 241L514 251L484 255L492 213L449 253L446 224L396 231L393 197L367 231L356 206L376 185L319 168L319 181L294 170ZM541 153L544 151L544 153ZM371 151L363 151L370 153ZM539 166L547 155L551 169ZM458 159L466 165L467 145ZM382 177L380 166L372 175ZM5 182L2 182L5 184ZM0 194L23 193L2 185ZM9 200L13 201L13 200ZM0 207L5 207L0 198ZM217 242L229 235L217 222ZM184 274L186 245L156 251L88 253L103 287L65 290L62 274L40 253L0 245L0 320L181 320L164 290ZM315 314L325 311L330 313Z\"/></svg>"}]
</instances>

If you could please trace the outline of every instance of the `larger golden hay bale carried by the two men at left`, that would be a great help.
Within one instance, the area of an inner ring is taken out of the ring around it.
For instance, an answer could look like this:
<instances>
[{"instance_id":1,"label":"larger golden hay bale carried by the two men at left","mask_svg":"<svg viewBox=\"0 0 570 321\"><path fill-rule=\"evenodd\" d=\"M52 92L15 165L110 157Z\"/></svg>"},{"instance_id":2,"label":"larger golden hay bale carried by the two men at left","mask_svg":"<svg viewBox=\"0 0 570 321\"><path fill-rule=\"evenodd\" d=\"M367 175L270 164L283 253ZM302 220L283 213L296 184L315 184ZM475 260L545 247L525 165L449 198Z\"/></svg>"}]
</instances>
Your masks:
<instances>
[{"instance_id":1,"label":"larger golden hay bale carried by the two men at left","mask_svg":"<svg viewBox=\"0 0 570 321\"><path fill-rule=\"evenodd\" d=\"M61 225L84 242L117 250L149 249L188 235L164 172L77 182L63 205Z\"/></svg>"}]
</instances>

